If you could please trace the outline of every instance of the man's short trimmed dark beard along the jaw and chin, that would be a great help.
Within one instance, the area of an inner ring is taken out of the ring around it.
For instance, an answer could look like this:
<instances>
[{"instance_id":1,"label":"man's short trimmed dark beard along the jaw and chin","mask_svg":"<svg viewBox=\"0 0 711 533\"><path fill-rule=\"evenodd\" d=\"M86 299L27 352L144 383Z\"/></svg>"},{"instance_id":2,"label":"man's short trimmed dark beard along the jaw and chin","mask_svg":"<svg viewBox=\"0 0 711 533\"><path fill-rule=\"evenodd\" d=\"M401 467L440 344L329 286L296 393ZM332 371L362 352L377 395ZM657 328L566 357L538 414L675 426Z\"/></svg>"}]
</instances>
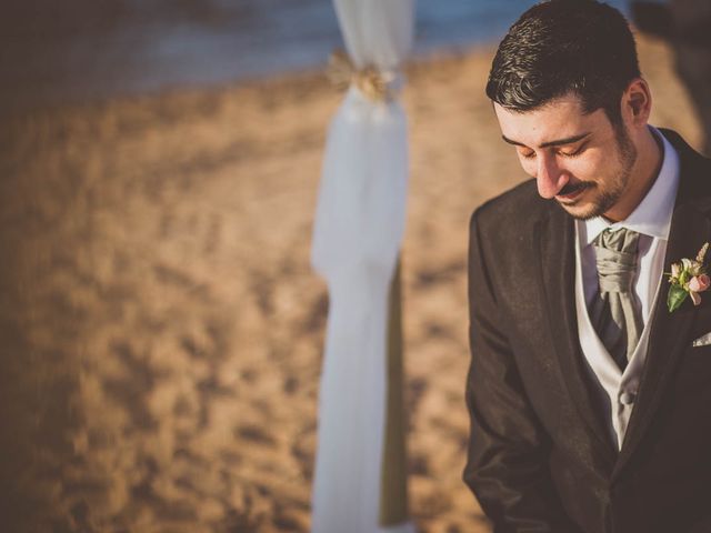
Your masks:
<instances>
[{"instance_id":1,"label":"man's short trimmed dark beard along the jaw and chin","mask_svg":"<svg viewBox=\"0 0 711 533\"><path fill-rule=\"evenodd\" d=\"M620 197L622 197L622 193L627 189L630 177L632 175L632 169L637 162L637 147L630 139L624 124L615 127L614 138L617 141L617 157L620 162L620 170L613 183L601 190L598 183L583 181L575 183L574 185L568 184L560 191L560 194L571 194L584 189L597 190L597 195L593 198L592 204L584 211L577 211L574 209L577 202L567 204L559 202L559 205L572 218L578 220L589 220L601 217L618 203Z\"/></svg>"}]
</instances>

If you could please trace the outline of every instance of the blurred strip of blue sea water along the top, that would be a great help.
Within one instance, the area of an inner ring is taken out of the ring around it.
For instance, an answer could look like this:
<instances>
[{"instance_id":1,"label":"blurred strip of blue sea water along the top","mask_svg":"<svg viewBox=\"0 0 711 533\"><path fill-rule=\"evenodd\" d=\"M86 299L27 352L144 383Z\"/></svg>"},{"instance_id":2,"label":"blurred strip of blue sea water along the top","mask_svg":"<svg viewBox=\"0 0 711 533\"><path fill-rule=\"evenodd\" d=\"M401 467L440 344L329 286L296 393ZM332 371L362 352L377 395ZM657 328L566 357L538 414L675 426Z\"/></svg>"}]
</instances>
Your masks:
<instances>
[{"instance_id":1,"label":"blurred strip of blue sea water along the top","mask_svg":"<svg viewBox=\"0 0 711 533\"><path fill-rule=\"evenodd\" d=\"M534 3L418 0L413 53L497 42ZM32 0L3 11L0 102L10 105L319 69L342 47L331 0Z\"/></svg>"}]
</instances>

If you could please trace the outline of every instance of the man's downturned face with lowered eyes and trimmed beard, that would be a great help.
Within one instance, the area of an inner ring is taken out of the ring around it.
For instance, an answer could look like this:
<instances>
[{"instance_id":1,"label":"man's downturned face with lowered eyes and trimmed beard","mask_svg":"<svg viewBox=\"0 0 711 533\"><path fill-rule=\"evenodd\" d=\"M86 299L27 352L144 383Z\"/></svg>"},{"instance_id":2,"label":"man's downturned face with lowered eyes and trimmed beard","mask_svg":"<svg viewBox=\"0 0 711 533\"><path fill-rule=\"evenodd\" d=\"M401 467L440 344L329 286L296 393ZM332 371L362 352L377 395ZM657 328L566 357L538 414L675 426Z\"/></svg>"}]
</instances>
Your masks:
<instances>
[{"instance_id":1,"label":"man's downturned face with lowered eyes and trimmed beard","mask_svg":"<svg viewBox=\"0 0 711 533\"><path fill-rule=\"evenodd\" d=\"M637 160L625 127L614 128L602 109L583 113L569 94L524 112L494 103L503 140L515 148L538 192L569 214L607 213L624 194Z\"/></svg>"}]
</instances>

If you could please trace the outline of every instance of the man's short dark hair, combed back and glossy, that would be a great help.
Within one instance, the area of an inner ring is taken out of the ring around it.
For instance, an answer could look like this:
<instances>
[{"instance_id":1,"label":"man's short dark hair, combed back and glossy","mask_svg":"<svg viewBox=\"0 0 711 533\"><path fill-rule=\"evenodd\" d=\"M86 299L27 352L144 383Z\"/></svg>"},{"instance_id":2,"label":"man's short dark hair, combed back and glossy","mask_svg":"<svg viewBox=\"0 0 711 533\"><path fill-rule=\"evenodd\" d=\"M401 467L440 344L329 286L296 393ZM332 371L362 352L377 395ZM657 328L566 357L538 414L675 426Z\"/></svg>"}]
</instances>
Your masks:
<instances>
[{"instance_id":1,"label":"man's short dark hair, combed back and glossy","mask_svg":"<svg viewBox=\"0 0 711 533\"><path fill-rule=\"evenodd\" d=\"M617 127L622 92L640 76L622 13L594 0L550 0L525 11L499 44L487 95L527 111L574 92L583 112L602 108Z\"/></svg>"}]
</instances>

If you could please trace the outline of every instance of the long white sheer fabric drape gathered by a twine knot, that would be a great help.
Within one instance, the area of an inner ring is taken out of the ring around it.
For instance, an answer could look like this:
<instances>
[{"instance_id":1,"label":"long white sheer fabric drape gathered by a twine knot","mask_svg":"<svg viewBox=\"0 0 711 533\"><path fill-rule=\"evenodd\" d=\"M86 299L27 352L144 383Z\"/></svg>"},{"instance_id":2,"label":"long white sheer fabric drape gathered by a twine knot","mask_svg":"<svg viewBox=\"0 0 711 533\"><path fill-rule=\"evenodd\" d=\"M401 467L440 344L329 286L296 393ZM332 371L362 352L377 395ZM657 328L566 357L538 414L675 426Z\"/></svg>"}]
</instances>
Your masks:
<instances>
[{"instance_id":1,"label":"long white sheer fabric drape gathered by a twine knot","mask_svg":"<svg viewBox=\"0 0 711 533\"><path fill-rule=\"evenodd\" d=\"M397 72L413 0L334 0L357 68ZM378 525L385 422L388 294L404 231L407 118L351 86L328 134L311 261L329 289L312 492L313 533L413 532Z\"/></svg>"}]
</instances>

